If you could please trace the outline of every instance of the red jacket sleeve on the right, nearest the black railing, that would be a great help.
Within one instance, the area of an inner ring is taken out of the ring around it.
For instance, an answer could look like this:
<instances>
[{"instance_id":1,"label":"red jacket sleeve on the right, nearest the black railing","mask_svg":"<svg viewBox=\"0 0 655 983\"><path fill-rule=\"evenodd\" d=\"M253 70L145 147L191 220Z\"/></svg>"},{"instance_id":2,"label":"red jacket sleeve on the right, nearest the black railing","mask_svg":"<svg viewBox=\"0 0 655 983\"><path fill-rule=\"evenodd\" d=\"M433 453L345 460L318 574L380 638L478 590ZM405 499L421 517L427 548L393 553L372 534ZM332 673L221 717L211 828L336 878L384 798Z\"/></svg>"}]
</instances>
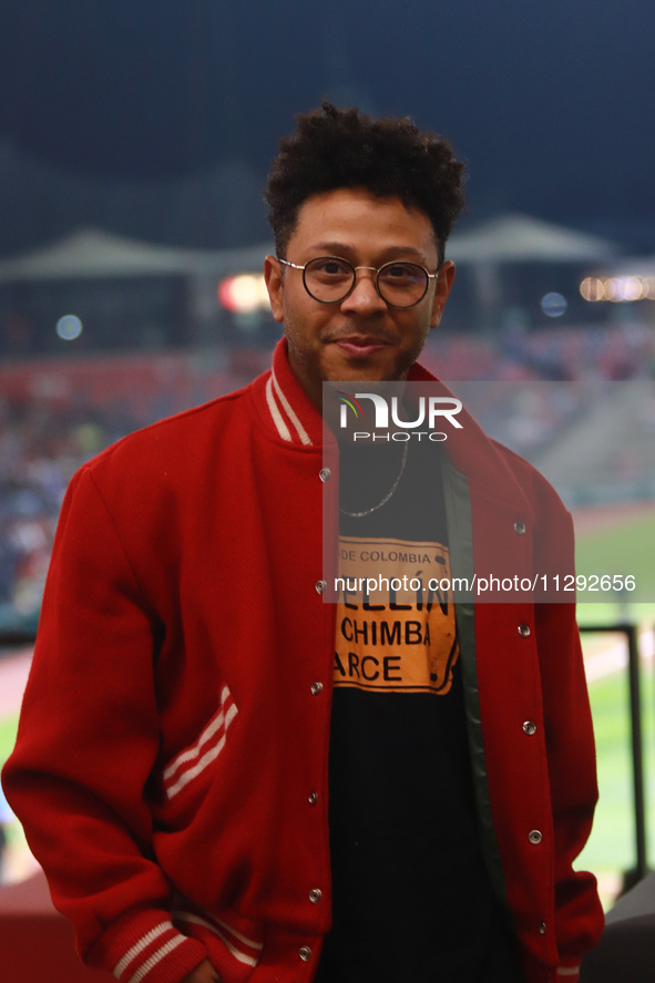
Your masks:
<instances>
[{"instance_id":1,"label":"red jacket sleeve on the right, nearest the black railing","mask_svg":"<svg viewBox=\"0 0 655 983\"><path fill-rule=\"evenodd\" d=\"M549 533L552 550L557 552L553 563L572 572L573 526L569 513L562 512ZM594 876L574 869L591 833L598 791L574 595L570 596L569 603L538 605L536 621L555 837L557 979L575 981L581 955L598 941L604 918Z\"/></svg>"}]
</instances>

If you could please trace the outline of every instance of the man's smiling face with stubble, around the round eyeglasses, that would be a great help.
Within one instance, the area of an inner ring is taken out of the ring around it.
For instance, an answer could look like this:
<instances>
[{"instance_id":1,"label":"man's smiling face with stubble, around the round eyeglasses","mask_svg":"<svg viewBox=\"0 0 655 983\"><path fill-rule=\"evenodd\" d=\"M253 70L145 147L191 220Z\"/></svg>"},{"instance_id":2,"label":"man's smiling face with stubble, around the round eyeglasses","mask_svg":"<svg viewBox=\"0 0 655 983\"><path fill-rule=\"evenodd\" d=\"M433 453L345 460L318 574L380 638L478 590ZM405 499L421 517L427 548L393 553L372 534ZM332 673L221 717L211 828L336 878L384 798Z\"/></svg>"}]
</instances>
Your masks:
<instances>
[{"instance_id":1,"label":"man's smiling face with stubble, around the round eyeglasses","mask_svg":"<svg viewBox=\"0 0 655 983\"><path fill-rule=\"evenodd\" d=\"M428 216L399 197L376 197L366 188L313 195L301 205L286 259L300 266L318 256L338 256L354 266L380 267L407 259L434 273L437 243ZM303 272L265 263L273 315L283 321L289 361L303 388L320 409L324 381L400 380L417 360L431 328L441 319L454 265L447 262L423 299L402 310L389 307L375 287L375 273L357 272L345 300L320 304L307 294Z\"/></svg>"}]
</instances>

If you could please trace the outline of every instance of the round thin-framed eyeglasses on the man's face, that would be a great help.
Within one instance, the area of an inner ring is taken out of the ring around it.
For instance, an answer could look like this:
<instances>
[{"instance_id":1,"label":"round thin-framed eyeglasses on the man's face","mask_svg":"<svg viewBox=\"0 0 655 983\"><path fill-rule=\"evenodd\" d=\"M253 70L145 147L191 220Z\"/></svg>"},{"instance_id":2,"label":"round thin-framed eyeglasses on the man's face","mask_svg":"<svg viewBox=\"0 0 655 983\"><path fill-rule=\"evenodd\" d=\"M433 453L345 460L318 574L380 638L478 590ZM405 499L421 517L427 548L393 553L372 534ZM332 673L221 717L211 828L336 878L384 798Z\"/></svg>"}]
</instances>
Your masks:
<instances>
[{"instance_id":1,"label":"round thin-framed eyeglasses on the man's face","mask_svg":"<svg viewBox=\"0 0 655 983\"><path fill-rule=\"evenodd\" d=\"M431 279L439 276L428 273L424 266L406 259L393 259L379 268L376 266L352 266L339 256L317 256L304 266L279 259L285 266L303 270L303 283L310 297L320 304L339 304L345 300L357 283L358 269L370 269L376 290L389 307L413 307L428 293Z\"/></svg>"}]
</instances>

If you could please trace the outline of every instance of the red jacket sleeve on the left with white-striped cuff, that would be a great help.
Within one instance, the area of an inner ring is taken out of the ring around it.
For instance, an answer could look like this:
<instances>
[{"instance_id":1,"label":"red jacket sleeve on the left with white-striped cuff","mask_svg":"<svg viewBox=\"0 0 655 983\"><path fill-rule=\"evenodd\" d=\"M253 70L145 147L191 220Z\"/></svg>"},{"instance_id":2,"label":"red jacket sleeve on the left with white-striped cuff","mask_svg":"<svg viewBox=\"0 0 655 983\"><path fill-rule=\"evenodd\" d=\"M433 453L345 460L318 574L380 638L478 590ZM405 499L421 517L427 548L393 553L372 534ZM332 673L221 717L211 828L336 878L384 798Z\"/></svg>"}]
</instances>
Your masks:
<instances>
[{"instance_id":1,"label":"red jacket sleeve on the left with white-striped cuff","mask_svg":"<svg viewBox=\"0 0 655 983\"><path fill-rule=\"evenodd\" d=\"M85 468L62 510L3 785L82 958L121 983L178 983L206 958L173 925L151 847L161 629Z\"/></svg>"}]
</instances>

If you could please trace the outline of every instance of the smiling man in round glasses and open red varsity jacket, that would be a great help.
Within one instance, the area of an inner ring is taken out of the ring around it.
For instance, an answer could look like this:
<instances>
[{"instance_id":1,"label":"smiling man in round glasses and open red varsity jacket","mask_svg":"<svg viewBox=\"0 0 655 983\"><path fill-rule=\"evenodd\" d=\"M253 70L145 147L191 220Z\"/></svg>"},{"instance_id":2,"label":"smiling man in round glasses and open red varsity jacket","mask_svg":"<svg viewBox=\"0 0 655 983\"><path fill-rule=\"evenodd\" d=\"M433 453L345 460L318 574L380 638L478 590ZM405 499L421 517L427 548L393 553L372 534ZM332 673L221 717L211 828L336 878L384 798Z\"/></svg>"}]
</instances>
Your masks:
<instances>
[{"instance_id":1,"label":"smiling man in round glasses and open red varsity jacket","mask_svg":"<svg viewBox=\"0 0 655 983\"><path fill-rule=\"evenodd\" d=\"M330 491L323 383L431 378L461 172L407 120L299 116L267 190L272 371L71 483L4 780L121 983L552 983L597 939L571 866L596 798L571 606L391 601L376 675L387 606L323 601L324 490L342 542L391 525L453 569L571 552L552 489L469 418L429 484L400 448Z\"/></svg>"}]
</instances>

